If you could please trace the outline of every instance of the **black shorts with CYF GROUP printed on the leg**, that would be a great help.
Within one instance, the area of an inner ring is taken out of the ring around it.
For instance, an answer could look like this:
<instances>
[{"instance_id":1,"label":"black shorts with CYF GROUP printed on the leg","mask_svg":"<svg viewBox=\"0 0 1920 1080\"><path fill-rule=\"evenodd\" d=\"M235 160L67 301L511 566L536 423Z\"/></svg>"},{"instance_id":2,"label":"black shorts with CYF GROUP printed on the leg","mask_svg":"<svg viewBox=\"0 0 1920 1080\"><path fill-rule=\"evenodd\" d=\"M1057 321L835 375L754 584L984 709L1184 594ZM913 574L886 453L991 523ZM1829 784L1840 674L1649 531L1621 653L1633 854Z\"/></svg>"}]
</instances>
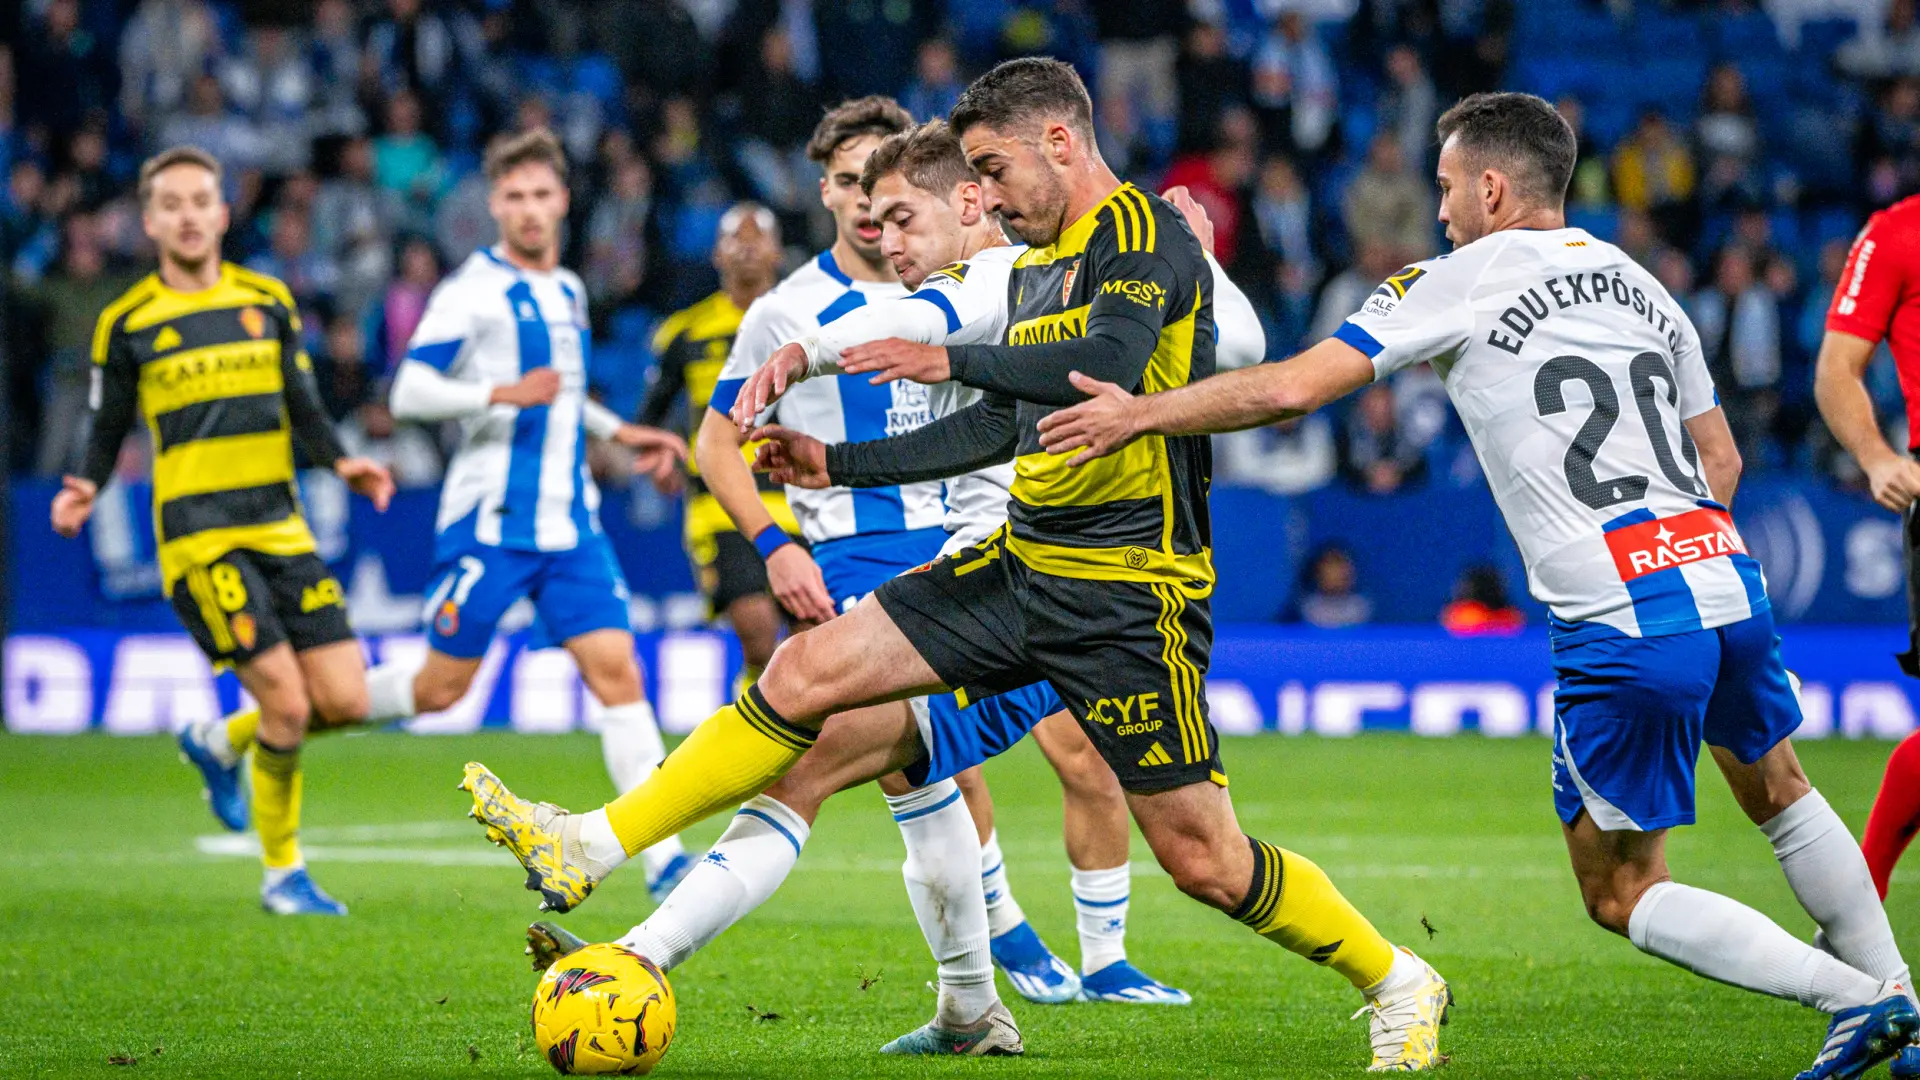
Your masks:
<instances>
[{"instance_id":1,"label":"black shorts with CYF GROUP printed on the leg","mask_svg":"<svg viewBox=\"0 0 1920 1080\"><path fill-rule=\"evenodd\" d=\"M1212 588L1043 575L1004 544L1002 530L874 596L968 698L1050 680L1129 792L1225 784L1206 713Z\"/></svg>"}]
</instances>

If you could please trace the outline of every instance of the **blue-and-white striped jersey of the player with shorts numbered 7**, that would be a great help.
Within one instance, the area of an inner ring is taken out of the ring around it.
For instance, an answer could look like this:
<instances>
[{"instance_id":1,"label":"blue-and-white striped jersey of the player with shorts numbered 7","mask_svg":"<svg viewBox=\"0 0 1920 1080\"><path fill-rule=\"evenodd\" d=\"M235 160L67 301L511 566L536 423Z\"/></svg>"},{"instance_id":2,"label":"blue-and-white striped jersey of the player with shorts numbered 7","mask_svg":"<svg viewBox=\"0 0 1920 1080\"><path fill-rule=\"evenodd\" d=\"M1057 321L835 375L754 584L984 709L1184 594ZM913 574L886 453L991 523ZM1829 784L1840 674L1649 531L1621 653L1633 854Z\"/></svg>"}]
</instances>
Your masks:
<instances>
[{"instance_id":1,"label":"blue-and-white striped jersey of the player with shorts numbered 7","mask_svg":"<svg viewBox=\"0 0 1920 1080\"><path fill-rule=\"evenodd\" d=\"M409 363L476 386L513 384L540 367L561 375L551 405L486 405L459 417L440 532L472 515L480 544L524 552L566 552L599 532L599 488L586 465L586 296L572 271L526 271L495 248L474 252L434 288Z\"/></svg>"}]
</instances>

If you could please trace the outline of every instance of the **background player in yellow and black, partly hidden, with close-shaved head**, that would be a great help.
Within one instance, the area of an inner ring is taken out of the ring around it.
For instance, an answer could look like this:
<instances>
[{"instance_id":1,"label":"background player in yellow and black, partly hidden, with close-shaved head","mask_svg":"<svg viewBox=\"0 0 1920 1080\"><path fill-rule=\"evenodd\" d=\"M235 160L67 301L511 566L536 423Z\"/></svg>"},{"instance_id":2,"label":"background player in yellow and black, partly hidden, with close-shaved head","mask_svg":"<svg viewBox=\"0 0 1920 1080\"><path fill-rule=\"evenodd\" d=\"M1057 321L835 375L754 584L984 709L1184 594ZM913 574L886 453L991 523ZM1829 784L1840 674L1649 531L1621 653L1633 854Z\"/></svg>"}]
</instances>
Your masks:
<instances>
[{"instance_id":1,"label":"background player in yellow and black, partly hidden, with close-shaved head","mask_svg":"<svg viewBox=\"0 0 1920 1080\"><path fill-rule=\"evenodd\" d=\"M687 442L701 434L707 400L733 348L739 321L762 292L780 279L780 227L764 206L743 202L720 217L714 242L714 269L720 271L720 290L666 317L653 334L653 356L659 377L639 405L639 423L668 427L674 404L685 400ZM745 450L753 459L753 448ZM720 500L707 490L699 467L687 469L685 544L699 577L701 592L712 615L726 615L739 638L747 669L743 684L751 684L766 669L780 640L781 613L766 586L766 563L760 552L739 534ZM751 505L751 503L749 503ZM760 479L760 505L795 542L801 527L787 509L785 490Z\"/></svg>"}]
</instances>

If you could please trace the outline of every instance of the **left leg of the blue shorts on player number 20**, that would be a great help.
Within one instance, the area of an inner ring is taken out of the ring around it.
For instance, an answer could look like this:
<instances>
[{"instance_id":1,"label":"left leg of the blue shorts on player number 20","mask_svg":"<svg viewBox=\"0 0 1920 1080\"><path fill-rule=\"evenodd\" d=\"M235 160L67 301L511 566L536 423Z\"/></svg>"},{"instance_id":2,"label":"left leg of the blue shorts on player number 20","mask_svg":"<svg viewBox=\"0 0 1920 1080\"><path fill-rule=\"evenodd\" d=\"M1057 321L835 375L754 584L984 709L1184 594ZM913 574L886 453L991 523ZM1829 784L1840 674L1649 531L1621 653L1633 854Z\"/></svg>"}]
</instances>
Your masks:
<instances>
[{"instance_id":1,"label":"left leg of the blue shorts on player number 20","mask_svg":"<svg viewBox=\"0 0 1920 1080\"><path fill-rule=\"evenodd\" d=\"M1718 671L1713 630L1553 650L1553 809L1601 830L1693 822L1693 765Z\"/></svg>"}]
</instances>

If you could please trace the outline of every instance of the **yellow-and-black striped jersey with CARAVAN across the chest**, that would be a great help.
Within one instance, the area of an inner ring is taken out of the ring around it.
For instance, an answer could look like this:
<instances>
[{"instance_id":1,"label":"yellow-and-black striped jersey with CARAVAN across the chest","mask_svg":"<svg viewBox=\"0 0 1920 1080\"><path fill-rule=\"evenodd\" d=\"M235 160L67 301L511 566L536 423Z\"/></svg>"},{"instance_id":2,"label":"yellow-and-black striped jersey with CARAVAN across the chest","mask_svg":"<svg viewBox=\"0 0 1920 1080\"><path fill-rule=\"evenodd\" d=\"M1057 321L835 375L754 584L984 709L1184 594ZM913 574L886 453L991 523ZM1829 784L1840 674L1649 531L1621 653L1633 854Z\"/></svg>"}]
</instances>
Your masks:
<instances>
[{"instance_id":1,"label":"yellow-and-black striped jersey with CARAVAN across the chest","mask_svg":"<svg viewBox=\"0 0 1920 1080\"><path fill-rule=\"evenodd\" d=\"M92 359L94 430L81 475L104 484L134 411L146 419L154 536L169 590L186 569L238 548L313 552L292 432L317 465L344 452L282 282L232 263L200 292L148 275L100 313Z\"/></svg>"}]
</instances>

